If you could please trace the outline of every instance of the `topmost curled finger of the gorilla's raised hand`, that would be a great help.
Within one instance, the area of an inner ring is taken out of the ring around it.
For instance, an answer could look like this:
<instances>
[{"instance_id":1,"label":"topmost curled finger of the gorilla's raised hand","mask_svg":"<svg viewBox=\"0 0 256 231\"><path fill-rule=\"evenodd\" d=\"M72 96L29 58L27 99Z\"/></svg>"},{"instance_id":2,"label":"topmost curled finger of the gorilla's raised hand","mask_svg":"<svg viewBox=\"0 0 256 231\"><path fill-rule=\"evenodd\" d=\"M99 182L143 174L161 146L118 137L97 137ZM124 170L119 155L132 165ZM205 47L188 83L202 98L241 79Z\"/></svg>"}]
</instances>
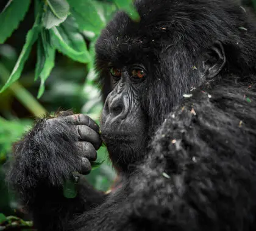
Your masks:
<instances>
[{"instance_id":1,"label":"topmost curled finger of the gorilla's raised hand","mask_svg":"<svg viewBox=\"0 0 256 231\"><path fill-rule=\"evenodd\" d=\"M97 125L97 123L95 123L93 119L84 114L67 116L64 120L66 122L73 123L74 125L87 125L91 129L96 131L96 133L99 133L99 126Z\"/></svg>"}]
</instances>

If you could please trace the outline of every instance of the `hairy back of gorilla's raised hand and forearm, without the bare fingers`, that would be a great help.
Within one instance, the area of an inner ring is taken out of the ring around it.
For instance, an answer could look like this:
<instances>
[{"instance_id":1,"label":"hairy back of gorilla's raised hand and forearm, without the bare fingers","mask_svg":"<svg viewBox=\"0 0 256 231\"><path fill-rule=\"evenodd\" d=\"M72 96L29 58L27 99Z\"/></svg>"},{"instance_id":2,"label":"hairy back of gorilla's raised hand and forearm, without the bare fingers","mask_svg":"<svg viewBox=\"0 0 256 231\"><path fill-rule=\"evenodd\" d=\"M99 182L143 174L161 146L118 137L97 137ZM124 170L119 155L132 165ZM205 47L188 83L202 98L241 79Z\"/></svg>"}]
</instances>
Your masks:
<instances>
[{"instance_id":1,"label":"hairy back of gorilla's raised hand and forearm, without the bare fingers","mask_svg":"<svg viewBox=\"0 0 256 231\"><path fill-rule=\"evenodd\" d=\"M14 145L7 181L19 192L38 230L63 230L74 214L102 204L105 195L80 179L76 198L63 196L63 182L79 169L77 137L65 123L55 122L50 131L45 123L46 119L39 120Z\"/></svg>"}]
</instances>

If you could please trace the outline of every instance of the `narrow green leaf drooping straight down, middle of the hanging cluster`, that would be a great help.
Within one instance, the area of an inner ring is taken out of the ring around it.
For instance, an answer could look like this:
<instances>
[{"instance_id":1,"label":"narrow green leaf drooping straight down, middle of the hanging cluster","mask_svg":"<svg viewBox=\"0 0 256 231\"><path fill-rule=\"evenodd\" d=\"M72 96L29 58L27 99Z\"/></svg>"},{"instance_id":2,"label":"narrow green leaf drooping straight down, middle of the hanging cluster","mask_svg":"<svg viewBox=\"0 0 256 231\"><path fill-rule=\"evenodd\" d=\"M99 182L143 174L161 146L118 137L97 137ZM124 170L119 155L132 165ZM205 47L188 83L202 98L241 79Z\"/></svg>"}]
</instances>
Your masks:
<instances>
[{"instance_id":1,"label":"narrow green leaf drooping straight down, middle of the hanging cluster","mask_svg":"<svg viewBox=\"0 0 256 231\"><path fill-rule=\"evenodd\" d=\"M37 98L44 92L44 82L54 67L55 49L49 43L49 31L42 30L37 41L37 65L35 68L35 80L40 76L41 84Z\"/></svg>"}]
</instances>

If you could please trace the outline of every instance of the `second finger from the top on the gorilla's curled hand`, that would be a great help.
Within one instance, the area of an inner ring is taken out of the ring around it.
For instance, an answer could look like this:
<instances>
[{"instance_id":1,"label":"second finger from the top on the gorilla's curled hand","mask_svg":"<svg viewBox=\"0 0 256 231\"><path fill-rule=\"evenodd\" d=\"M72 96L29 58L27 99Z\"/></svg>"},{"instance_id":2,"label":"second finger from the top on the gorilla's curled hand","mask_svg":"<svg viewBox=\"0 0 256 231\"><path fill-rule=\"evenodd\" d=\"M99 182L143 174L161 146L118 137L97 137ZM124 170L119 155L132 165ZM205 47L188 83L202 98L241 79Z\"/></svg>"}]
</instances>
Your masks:
<instances>
[{"instance_id":1,"label":"second finger from the top on the gorilla's curled hand","mask_svg":"<svg viewBox=\"0 0 256 231\"><path fill-rule=\"evenodd\" d=\"M76 130L79 134L80 140L92 143L96 150L101 147L101 137L96 133L96 131L85 125L77 125Z\"/></svg>"}]
</instances>

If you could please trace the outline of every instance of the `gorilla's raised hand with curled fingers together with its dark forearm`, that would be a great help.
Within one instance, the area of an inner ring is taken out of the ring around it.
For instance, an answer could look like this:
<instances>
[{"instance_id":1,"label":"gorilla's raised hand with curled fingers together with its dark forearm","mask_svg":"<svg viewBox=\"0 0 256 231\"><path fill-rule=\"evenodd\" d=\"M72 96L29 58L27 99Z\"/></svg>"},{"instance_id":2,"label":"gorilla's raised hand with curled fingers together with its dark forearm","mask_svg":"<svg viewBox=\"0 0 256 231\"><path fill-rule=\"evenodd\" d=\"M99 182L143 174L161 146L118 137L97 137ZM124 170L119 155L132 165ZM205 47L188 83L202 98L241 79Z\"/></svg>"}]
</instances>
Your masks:
<instances>
[{"instance_id":1,"label":"gorilla's raised hand with curled fingers together with its dark forearm","mask_svg":"<svg viewBox=\"0 0 256 231\"><path fill-rule=\"evenodd\" d=\"M96 160L100 146L98 125L90 117L70 111L38 120L14 145L7 180L40 230L64 230L74 214L105 200L105 195L95 191L85 179L77 182L73 199L66 198L63 188L74 172L90 172L90 162Z\"/></svg>"}]
</instances>

